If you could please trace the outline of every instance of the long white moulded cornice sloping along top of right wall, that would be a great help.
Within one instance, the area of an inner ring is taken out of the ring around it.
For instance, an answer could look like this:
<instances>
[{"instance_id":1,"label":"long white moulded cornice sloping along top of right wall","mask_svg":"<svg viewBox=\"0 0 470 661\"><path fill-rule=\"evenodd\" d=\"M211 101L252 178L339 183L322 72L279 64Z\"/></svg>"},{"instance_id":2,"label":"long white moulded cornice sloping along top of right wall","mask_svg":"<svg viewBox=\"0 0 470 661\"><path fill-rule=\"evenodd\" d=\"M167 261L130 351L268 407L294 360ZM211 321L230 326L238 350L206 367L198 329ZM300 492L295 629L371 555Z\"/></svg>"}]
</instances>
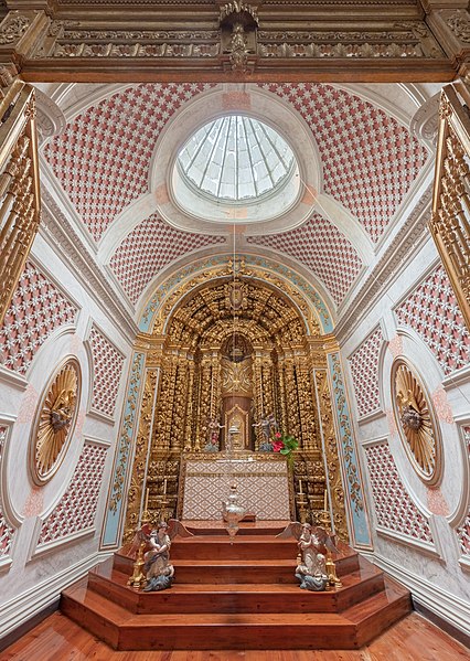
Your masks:
<instances>
[{"instance_id":1,"label":"long white moulded cornice sloping along top of right wall","mask_svg":"<svg viewBox=\"0 0 470 661\"><path fill-rule=\"evenodd\" d=\"M409 259L416 248L426 239L431 198L432 185L430 184L348 306L334 329L335 337L341 345L344 344L364 319L365 313L383 295L393 277L398 270L403 269L403 263Z\"/></svg>"}]
</instances>

